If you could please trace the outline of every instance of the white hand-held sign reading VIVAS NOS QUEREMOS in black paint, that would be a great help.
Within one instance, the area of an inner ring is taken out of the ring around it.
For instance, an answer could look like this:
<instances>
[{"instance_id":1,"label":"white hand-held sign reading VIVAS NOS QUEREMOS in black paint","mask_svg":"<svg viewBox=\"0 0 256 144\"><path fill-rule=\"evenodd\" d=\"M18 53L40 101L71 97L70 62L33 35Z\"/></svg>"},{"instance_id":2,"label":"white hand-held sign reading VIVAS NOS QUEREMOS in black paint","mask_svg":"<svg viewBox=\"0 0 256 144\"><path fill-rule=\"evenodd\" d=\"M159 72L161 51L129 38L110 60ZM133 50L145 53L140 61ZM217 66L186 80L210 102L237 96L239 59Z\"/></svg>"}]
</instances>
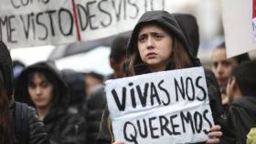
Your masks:
<instances>
[{"instance_id":1,"label":"white hand-held sign reading VIVAS NOS QUEREMOS in black paint","mask_svg":"<svg viewBox=\"0 0 256 144\"><path fill-rule=\"evenodd\" d=\"M213 125L203 67L105 82L112 130L125 143L194 143Z\"/></svg>"}]
</instances>

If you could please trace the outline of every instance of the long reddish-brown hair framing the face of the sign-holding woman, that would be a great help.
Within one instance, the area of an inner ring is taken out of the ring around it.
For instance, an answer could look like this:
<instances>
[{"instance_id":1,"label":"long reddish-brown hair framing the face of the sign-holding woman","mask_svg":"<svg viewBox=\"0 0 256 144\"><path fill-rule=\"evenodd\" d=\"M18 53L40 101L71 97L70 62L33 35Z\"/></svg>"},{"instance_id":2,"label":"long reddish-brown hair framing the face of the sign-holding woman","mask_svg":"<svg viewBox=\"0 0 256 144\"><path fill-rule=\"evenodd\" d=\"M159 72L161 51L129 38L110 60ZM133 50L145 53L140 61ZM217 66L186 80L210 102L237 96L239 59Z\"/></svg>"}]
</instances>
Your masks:
<instances>
[{"instance_id":1,"label":"long reddish-brown hair framing the face of the sign-holding woman","mask_svg":"<svg viewBox=\"0 0 256 144\"><path fill-rule=\"evenodd\" d=\"M146 23L143 26L139 27L138 32L136 33L136 35L139 34L140 30L145 26L145 25L155 25L155 26L159 26L162 29L164 29L165 32L168 32L168 34L173 38L173 52L170 56L171 62L174 63L174 68L175 69L179 69L179 68L186 68L186 67L192 67L192 62L191 59L189 58L187 51L185 49L185 46L183 46L183 44L179 41L179 39L176 38L176 36L173 36L171 34L171 32L169 32L167 30L167 28L160 26L158 23L154 23L154 22L150 22L150 23ZM137 39L135 44L137 44ZM127 65L128 67L126 68L126 72L127 72L127 76L134 76L135 71L134 71L134 66L138 63L141 63L142 59L139 55L139 51L138 51L138 47L136 46L133 50L133 54L132 56L130 56L127 60Z\"/></svg>"}]
</instances>

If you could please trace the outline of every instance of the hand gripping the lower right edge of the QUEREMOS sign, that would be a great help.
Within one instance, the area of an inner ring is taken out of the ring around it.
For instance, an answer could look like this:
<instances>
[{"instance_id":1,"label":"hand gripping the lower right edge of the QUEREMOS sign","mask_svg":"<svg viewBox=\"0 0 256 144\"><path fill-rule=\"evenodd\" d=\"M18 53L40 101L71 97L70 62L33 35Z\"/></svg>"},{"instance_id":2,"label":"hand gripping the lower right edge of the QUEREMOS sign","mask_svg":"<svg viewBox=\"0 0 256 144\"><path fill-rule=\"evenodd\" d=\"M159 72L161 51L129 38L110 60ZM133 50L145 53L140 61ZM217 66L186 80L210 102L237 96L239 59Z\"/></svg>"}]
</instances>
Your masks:
<instances>
[{"instance_id":1,"label":"hand gripping the lower right edge of the QUEREMOS sign","mask_svg":"<svg viewBox=\"0 0 256 144\"><path fill-rule=\"evenodd\" d=\"M219 143L219 138L222 136L222 132L220 131L220 129L221 128L219 125L214 125L211 129L209 129L207 144Z\"/></svg>"}]
</instances>

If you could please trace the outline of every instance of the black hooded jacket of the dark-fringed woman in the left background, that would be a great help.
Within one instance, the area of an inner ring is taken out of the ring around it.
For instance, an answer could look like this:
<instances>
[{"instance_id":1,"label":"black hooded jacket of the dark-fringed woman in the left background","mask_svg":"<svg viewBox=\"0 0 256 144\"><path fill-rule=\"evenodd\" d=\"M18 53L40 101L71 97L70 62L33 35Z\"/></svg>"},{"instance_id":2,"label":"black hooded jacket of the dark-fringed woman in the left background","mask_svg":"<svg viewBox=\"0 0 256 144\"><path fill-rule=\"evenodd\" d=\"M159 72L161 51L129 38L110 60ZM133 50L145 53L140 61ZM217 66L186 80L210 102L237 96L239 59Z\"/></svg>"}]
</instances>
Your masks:
<instances>
[{"instance_id":1,"label":"black hooded jacket of the dark-fringed woman in the left background","mask_svg":"<svg viewBox=\"0 0 256 144\"><path fill-rule=\"evenodd\" d=\"M29 97L28 76L39 71L48 73L53 78L53 98L51 99L48 115L43 122L46 125L51 144L84 144L86 141L85 118L78 114L67 112L69 104L68 87L60 78L59 71L53 63L38 62L27 67L17 77L15 98L17 101L25 102L34 106Z\"/></svg>"}]
</instances>

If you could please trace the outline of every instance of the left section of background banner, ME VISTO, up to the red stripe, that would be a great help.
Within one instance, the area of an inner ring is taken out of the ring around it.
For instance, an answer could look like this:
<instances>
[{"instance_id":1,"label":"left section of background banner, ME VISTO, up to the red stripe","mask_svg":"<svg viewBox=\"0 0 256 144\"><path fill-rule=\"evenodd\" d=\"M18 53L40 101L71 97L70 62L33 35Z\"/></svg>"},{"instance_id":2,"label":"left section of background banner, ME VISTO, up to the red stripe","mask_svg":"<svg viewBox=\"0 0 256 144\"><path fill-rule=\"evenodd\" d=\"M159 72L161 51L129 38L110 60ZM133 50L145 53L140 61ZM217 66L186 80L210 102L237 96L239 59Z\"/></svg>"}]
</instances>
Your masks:
<instances>
[{"instance_id":1,"label":"left section of background banner, ME VISTO, up to the red stripe","mask_svg":"<svg viewBox=\"0 0 256 144\"><path fill-rule=\"evenodd\" d=\"M76 41L71 0L1 0L0 39L9 48Z\"/></svg>"}]
</instances>

